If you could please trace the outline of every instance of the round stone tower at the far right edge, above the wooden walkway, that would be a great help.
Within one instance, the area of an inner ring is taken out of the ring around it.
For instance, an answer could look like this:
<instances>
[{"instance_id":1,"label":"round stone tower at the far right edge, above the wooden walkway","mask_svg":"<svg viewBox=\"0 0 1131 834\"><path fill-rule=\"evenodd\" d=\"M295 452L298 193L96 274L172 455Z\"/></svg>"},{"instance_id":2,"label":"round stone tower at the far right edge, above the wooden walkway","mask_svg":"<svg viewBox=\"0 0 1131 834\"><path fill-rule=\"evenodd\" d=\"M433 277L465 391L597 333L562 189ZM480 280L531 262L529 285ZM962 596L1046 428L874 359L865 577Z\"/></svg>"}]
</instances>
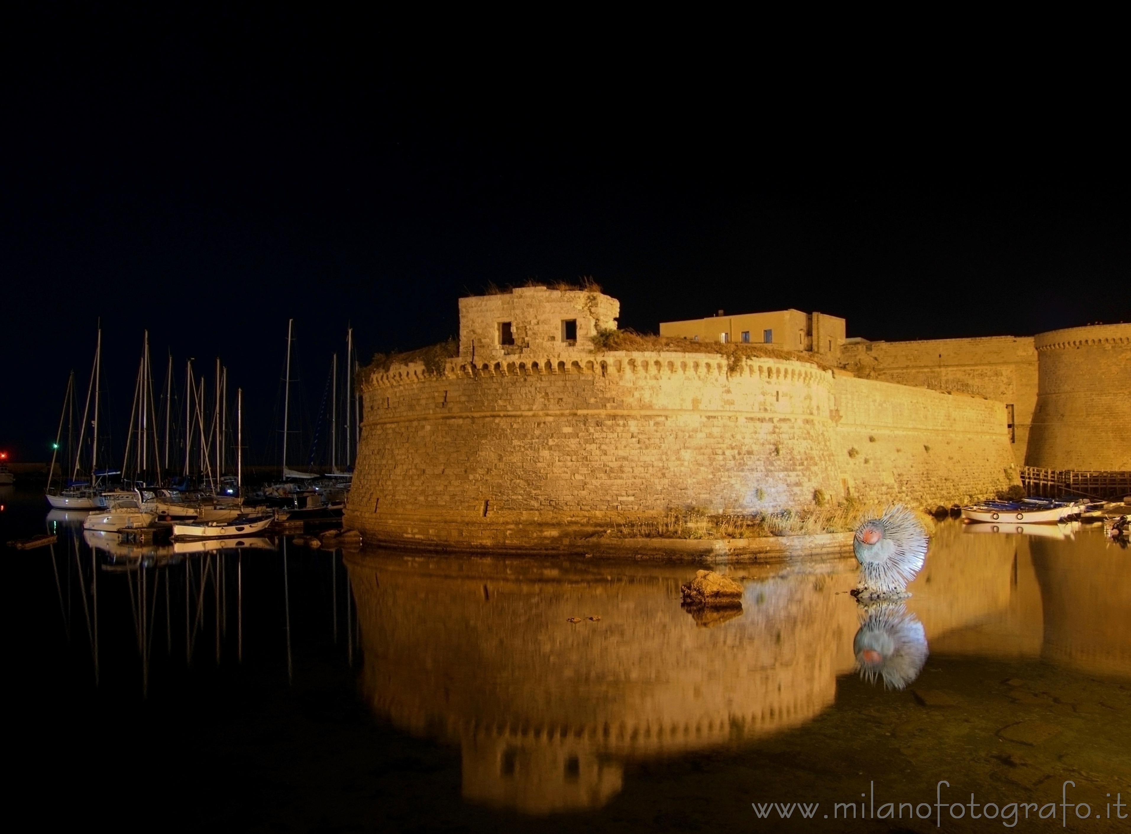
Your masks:
<instances>
[{"instance_id":1,"label":"round stone tower at the far right edge, above the wooden walkway","mask_svg":"<svg viewBox=\"0 0 1131 834\"><path fill-rule=\"evenodd\" d=\"M1053 330L1035 346L1028 464L1131 470L1131 324Z\"/></svg>"}]
</instances>

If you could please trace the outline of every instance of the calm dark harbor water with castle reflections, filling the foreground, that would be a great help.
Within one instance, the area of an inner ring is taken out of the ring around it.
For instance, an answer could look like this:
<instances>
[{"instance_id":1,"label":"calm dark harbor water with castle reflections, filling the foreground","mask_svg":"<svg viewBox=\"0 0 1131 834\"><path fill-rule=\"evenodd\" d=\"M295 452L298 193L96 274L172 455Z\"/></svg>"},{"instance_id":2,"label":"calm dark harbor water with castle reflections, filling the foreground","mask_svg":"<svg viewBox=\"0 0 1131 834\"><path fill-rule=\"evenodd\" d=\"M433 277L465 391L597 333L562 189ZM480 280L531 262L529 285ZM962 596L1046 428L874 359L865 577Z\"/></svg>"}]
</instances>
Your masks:
<instances>
[{"instance_id":1,"label":"calm dark harbor water with castle reflections, filling the foreground","mask_svg":"<svg viewBox=\"0 0 1131 834\"><path fill-rule=\"evenodd\" d=\"M851 558L734 566L741 614L705 614L688 565L278 541L139 568L0 503L3 540L59 533L5 551L11 796L50 797L41 825L925 832L943 780L943 831L1012 803L1064 829L1062 790L1069 829L1131 831L1131 551L1097 528L946 522L903 610L860 608ZM856 674L862 628L905 689Z\"/></svg>"}]
</instances>

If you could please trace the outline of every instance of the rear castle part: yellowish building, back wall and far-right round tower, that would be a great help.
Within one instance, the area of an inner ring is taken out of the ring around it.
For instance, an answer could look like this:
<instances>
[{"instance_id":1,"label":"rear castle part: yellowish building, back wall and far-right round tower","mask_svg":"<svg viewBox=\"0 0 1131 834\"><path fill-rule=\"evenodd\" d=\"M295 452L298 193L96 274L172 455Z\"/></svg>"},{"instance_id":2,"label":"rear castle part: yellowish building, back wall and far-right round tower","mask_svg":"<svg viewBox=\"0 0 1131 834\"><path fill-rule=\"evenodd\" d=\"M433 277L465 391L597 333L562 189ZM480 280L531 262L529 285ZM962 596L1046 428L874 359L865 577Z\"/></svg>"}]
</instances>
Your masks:
<instances>
[{"instance_id":1,"label":"rear castle part: yellowish building, back wall and far-right round tower","mask_svg":"<svg viewBox=\"0 0 1131 834\"><path fill-rule=\"evenodd\" d=\"M783 310L661 322L661 335L812 351L856 376L1005 403L1018 467L1131 470L1131 324L1037 336L870 341L845 320ZM752 338L753 337L753 338Z\"/></svg>"}]
</instances>

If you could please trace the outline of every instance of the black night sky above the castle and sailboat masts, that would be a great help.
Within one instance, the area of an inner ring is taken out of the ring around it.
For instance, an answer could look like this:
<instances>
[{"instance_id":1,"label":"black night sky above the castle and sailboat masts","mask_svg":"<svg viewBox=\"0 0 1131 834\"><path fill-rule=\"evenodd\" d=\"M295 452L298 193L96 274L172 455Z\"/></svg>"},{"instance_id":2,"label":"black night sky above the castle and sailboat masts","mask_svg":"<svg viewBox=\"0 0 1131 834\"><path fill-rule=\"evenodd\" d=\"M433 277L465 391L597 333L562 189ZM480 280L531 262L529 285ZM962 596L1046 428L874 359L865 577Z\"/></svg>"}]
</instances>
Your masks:
<instances>
[{"instance_id":1,"label":"black night sky above the castle and sailboat masts","mask_svg":"<svg viewBox=\"0 0 1131 834\"><path fill-rule=\"evenodd\" d=\"M872 339L1131 319L1125 95L1096 59L34 7L0 80L17 459L43 459L98 316L119 436L148 328L179 372L223 357L257 458L288 318L309 419L347 322L363 359L418 347L489 281L593 276L646 331L718 309Z\"/></svg>"}]
</instances>

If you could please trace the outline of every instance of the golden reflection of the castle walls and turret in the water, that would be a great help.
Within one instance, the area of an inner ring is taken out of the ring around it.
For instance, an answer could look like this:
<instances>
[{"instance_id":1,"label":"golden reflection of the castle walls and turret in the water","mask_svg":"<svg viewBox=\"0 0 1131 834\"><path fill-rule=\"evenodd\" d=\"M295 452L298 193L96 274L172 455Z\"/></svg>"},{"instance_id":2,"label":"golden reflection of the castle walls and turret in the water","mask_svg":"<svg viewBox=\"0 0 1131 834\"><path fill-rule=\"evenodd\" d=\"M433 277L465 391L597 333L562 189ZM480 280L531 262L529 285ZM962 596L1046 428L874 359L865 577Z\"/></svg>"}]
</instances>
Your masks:
<instances>
[{"instance_id":1,"label":"golden reflection of the castle walls and turret in the water","mask_svg":"<svg viewBox=\"0 0 1131 834\"><path fill-rule=\"evenodd\" d=\"M944 527L909 605L932 651L1131 674L1131 579L1098 536L1070 547ZM733 571L758 575L743 615L715 627L680 607L685 566L400 554L348 566L366 698L403 729L459 742L472 801L601 806L623 761L802 724L853 670L852 562Z\"/></svg>"}]
</instances>

